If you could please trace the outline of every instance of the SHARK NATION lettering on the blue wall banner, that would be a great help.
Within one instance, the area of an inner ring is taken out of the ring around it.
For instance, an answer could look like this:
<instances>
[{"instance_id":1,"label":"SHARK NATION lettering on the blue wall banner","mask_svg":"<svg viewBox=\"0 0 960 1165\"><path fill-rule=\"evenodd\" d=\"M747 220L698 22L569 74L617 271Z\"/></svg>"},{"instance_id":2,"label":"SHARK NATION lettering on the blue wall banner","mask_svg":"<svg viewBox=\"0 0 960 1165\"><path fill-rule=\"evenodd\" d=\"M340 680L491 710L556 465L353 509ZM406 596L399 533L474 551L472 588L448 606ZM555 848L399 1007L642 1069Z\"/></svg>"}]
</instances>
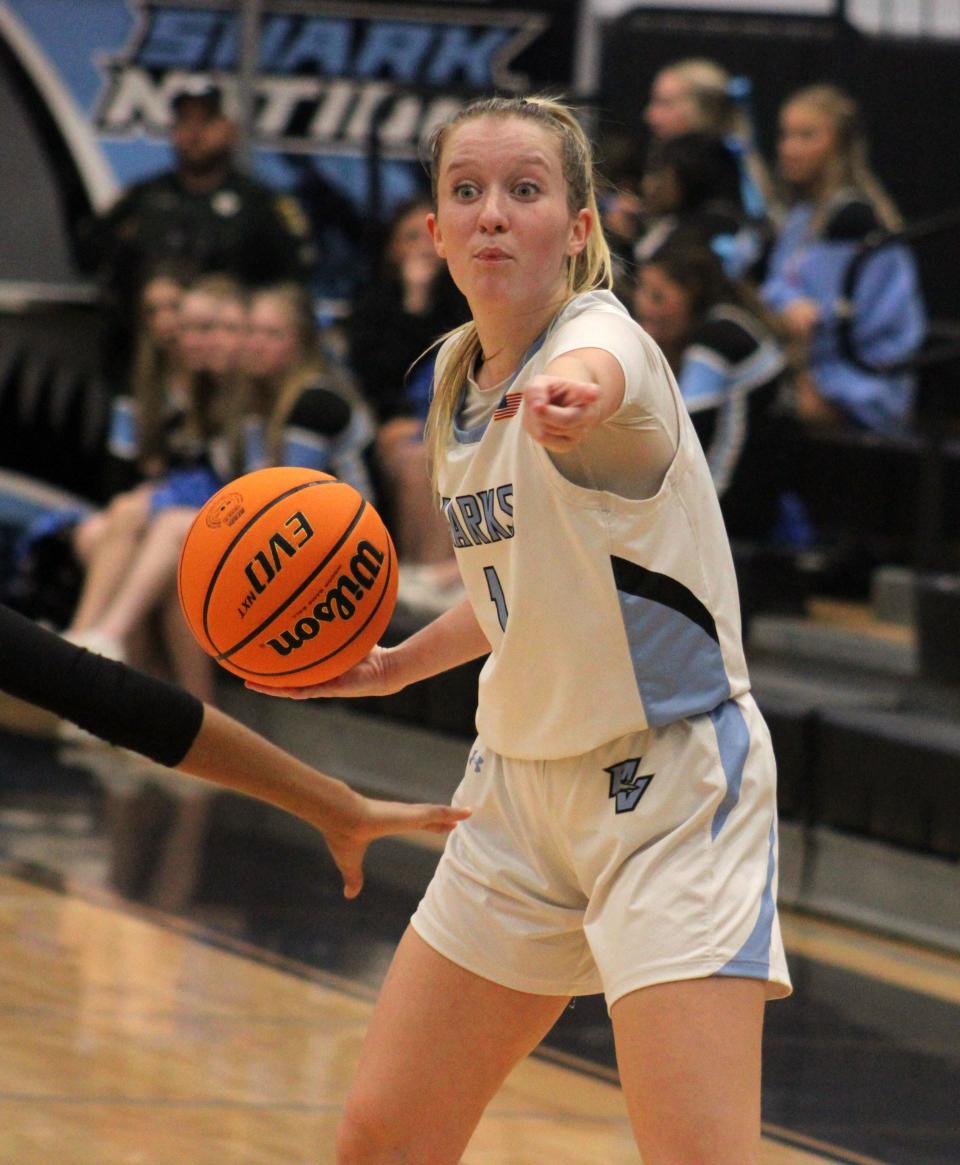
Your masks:
<instances>
[{"instance_id":1,"label":"SHARK NATION lettering on the blue wall banner","mask_svg":"<svg viewBox=\"0 0 960 1165\"><path fill-rule=\"evenodd\" d=\"M571 5L563 9L268 0L253 141L357 155L376 133L382 156L415 158L423 137L468 97L569 80L573 14ZM198 73L235 97L240 35L233 5L148 0L127 43L101 64L94 125L111 136L162 134L171 93Z\"/></svg>"}]
</instances>

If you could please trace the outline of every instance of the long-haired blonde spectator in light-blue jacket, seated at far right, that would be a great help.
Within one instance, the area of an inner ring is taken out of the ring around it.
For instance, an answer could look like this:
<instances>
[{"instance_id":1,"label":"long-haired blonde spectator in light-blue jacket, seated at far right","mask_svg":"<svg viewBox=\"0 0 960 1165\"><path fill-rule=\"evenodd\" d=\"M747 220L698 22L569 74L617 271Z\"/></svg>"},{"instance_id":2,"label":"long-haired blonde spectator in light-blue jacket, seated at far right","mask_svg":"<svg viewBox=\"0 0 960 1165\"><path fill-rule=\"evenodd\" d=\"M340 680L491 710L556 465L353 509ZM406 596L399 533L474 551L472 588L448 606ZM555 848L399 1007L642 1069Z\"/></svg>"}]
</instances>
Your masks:
<instances>
[{"instance_id":1,"label":"long-haired blonde spectator in light-blue jacket, seated at far right","mask_svg":"<svg viewBox=\"0 0 960 1165\"><path fill-rule=\"evenodd\" d=\"M800 415L810 422L894 433L910 417L915 379L854 365L840 343L847 267L874 231L901 218L871 172L856 104L833 85L793 93L781 110L779 174L792 203L762 288L802 353ZM870 363L909 358L925 312L913 259L904 246L877 252L852 302L855 348Z\"/></svg>"}]
</instances>

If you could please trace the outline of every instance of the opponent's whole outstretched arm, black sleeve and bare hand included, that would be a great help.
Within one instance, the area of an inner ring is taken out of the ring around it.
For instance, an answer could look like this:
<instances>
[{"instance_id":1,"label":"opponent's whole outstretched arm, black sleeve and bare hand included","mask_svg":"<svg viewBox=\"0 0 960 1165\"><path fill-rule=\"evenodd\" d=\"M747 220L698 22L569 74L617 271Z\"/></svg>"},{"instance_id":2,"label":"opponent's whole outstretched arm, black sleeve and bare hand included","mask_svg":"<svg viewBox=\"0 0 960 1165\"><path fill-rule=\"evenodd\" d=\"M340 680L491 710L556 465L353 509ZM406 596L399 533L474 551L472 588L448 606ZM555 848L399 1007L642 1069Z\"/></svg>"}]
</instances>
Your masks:
<instances>
[{"instance_id":1,"label":"opponent's whole outstretched arm, black sleeve and bare hand included","mask_svg":"<svg viewBox=\"0 0 960 1165\"><path fill-rule=\"evenodd\" d=\"M444 805L362 797L188 692L76 647L2 605L0 691L157 764L302 817L323 833L347 898L360 892L363 854L376 838L408 829L445 833L465 816Z\"/></svg>"}]
</instances>

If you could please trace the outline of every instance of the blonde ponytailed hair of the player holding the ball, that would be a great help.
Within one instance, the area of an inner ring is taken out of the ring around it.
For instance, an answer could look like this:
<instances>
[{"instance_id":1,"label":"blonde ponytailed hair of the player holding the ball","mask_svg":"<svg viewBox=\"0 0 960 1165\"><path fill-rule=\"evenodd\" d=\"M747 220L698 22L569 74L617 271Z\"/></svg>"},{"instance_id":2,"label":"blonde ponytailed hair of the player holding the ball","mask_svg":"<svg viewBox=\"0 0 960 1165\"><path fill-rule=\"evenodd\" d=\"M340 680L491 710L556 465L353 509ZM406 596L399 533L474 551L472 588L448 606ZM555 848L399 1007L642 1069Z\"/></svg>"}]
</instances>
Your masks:
<instances>
[{"instance_id":1,"label":"blonde ponytailed hair of the player holding the ball","mask_svg":"<svg viewBox=\"0 0 960 1165\"><path fill-rule=\"evenodd\" d=\"M433 205L437 204L440 158L451 132L465 121L479 118L520 118L542 126L557 137L570 214L573 217L586 209L592 217L592 230L587 235L586 246L567 264L564 302L569 302L583 291L612 287L613 262L600 225L591 146L573 110L563 101L549 97L481 98L438 126L430 137L429 154ZM480 355L480 338L472 320L449 332L437 343L444 339L451 339L450 352L435 379L433 400L424 431L424 440L431 453L435 485L446 437L453 424L460 388L477 356Z\"/></svg>"}]
</instances>

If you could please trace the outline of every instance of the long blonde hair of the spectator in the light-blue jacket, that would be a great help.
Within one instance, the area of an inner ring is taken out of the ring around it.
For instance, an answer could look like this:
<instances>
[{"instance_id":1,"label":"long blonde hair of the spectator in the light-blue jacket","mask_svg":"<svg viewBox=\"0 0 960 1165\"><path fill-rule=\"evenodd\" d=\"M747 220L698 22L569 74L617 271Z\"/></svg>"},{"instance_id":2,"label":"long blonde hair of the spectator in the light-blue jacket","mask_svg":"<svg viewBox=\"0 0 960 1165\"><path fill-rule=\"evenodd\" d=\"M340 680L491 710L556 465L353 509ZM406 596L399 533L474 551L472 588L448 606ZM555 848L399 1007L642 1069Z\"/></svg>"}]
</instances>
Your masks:
<instances>
[{"instance_id":1,"label":"long blonde hair of the spectator in the light-blue jacket","mask_svg":"<svg viewBox=\"0 0 960 1165\"><path fill-rule=\"evenodd\" d=\"M837 85L807 85L797 90L783 103L783 108L791 105L806 105L823 113L837 137L837 151L831 161L824 189L817 197L817 212L811 227L814 232L824 227L830 218L831 204L843 191L855 190L866 196L871 204L881 225L896 231L903 225L892 198L887 193L880 178L873 172L869 163L867 135L860 120L856 101Z\"/></svg>"}]
</instances>

